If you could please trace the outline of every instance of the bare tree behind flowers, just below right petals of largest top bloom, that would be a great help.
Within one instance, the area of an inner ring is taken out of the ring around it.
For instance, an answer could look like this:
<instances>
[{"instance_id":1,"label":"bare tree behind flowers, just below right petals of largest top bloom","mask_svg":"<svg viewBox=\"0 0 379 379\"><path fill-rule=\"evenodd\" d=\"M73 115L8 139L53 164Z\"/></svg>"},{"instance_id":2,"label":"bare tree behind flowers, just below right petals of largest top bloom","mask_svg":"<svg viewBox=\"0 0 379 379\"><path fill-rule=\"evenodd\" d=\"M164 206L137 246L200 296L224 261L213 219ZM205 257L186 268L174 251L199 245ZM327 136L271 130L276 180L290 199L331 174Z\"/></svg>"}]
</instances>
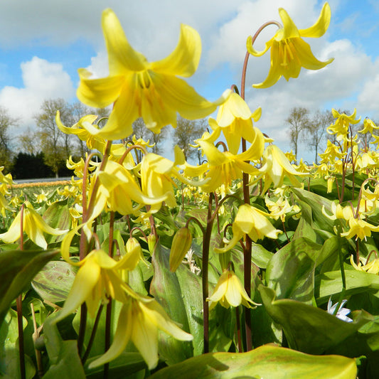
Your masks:
<instances>
[{"instance_id":1,"label":"bare tree behind flowers, just below right petals of largest top bloom","mask_svg":"<svg viewBox=\"0 0 379 379\"><path fill-rule=\"evenodd\" d=\"M207 124L206 119L190 120L178 116L176 129L174 129L174 144L183 150L186 159L194 158L198 154L198 149L193 148L190 144L194 144L193 141L202 136ZM201 157L198 156L198 159L200 164Z\"/></svg>"}]
</instances>

